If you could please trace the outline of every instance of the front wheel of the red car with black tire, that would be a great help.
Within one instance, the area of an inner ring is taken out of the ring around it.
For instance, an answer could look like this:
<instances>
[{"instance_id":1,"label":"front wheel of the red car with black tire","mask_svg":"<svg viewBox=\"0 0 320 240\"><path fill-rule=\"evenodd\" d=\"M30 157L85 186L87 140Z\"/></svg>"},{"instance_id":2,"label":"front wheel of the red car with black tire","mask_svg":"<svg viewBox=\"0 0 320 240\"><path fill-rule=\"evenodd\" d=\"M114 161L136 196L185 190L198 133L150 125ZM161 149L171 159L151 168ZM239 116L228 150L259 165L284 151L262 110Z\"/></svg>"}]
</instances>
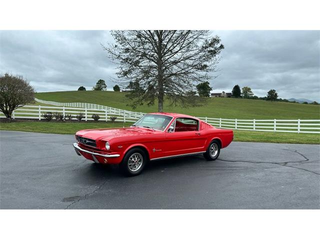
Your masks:
<instances>
[{"instance_id":1,"label":"front wheel of the red car with black tire","mask_svg":"<svg viewBox=\"0 0 320 240\"><path fill-rule=\"evenodd\" d=\"M134 160L138 162L139 158L142 158L140 164L133 163ZM124 175L136 176L141 173L147 160L147 155L142 149L132 148L125 153L121 163L119 164L119 167ZM134 169L135 166L136 169Z\"/></svg>"}]
</instances>

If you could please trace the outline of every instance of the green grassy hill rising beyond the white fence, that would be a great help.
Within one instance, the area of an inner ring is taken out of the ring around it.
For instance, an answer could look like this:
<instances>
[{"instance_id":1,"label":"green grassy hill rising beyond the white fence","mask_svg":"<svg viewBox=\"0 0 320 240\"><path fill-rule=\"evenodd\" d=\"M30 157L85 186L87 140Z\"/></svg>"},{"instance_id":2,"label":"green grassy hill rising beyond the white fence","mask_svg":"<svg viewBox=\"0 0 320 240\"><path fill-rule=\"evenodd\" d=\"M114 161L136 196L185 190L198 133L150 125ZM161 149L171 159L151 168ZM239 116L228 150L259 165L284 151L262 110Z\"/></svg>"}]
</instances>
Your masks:
<instances>
[{"instance_id":1,"label":"green grassy hill rising beyond the white fence","mask_svg":"<svg viewBox=\"0 0 320 240\"><path fill-rule=\"evenodd\" d=\"M132 109L127 105L128 99L125 94L125 92L114 91L56 91L38 92L35 97L58 102L88 102L133 111L157 111L157 104L153 106L142 105ZM200 107L181 108L180 106L169 106L165 102L164 111L185 113L193 116L238 119L320 118L320 105L220 97L209 98L206 104Z\"/></svg>"}]
</instances>

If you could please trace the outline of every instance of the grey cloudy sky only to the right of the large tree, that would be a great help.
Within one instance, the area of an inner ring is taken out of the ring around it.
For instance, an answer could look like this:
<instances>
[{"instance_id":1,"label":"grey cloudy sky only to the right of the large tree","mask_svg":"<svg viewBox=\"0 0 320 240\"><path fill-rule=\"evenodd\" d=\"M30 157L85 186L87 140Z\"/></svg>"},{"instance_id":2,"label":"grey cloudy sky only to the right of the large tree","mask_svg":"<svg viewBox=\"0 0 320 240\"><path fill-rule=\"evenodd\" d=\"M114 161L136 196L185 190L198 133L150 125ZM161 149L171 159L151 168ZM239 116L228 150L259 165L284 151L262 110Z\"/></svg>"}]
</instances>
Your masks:
<instances>
[{"instance_id":1,"label":"grey cloudy sky only to the right of the large tree","mask_svg":"<svg viewBox=\"0 0 320 240\"><path fill-rule=\"evenodd\" d=\"M225 49L216 90L250 86L258 96L320 99L320 31L215 31Z\"/></svg>"}]
</instances>

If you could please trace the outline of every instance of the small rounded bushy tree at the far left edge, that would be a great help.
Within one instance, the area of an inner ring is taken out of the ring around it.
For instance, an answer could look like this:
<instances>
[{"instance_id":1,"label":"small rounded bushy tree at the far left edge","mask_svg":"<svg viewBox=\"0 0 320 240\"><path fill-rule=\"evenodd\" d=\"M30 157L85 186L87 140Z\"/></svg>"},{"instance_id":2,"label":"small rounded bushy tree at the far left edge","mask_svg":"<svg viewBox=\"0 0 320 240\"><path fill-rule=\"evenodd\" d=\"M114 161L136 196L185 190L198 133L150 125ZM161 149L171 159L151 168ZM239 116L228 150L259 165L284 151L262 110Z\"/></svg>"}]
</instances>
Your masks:
<instances>
[{"instance_id":1,"label":"small rounded bushy tree at the far left edge","mask_svg":"<svg viewBox=\"0 0 320 240\"><path fill-rule=\"evenodd\" d=\"M11 120L12 111L34 99L34 89L20 75L0 75L0 110Z\"/></svg>"}]
</instances>

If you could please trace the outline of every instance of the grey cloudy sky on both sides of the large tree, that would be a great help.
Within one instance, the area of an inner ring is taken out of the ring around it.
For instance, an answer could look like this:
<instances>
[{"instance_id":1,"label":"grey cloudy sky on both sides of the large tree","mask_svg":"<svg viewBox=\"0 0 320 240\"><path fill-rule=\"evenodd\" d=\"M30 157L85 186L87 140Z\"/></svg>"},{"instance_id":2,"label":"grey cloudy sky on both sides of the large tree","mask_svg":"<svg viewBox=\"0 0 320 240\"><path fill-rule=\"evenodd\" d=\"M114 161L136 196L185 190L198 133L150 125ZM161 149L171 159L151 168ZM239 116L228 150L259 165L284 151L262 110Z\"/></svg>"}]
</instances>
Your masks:
<instances>
[{"instance_id":1,"label":"grey cloudy sky on both sides of the large tree","mask_svg":"<svg viewBox=\"0 0 320 240\"><path fill-rule=\"evenodd\" d=\"M320 31L212 31L225 49L213 92L250 86L265 96L273 88L281 98L320 101ZM0 31L0 73L22 74L36 91L87 89L104 79L116 84L114 65L100 43L108 31Z\"/></svg>"}]
</instances>

